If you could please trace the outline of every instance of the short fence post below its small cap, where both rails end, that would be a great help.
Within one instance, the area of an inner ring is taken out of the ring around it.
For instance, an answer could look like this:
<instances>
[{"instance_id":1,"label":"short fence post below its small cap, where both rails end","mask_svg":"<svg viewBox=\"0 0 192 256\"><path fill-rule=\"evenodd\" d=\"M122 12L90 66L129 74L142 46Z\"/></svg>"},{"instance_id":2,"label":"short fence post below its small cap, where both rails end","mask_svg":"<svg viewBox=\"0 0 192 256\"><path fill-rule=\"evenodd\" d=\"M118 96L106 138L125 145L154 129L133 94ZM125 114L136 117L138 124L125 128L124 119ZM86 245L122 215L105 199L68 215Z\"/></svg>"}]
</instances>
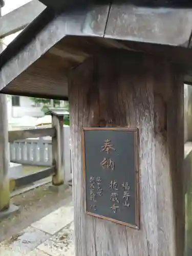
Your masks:
<instances>
[{"instance_id":1,"label":"short fence post below its small cap, where both rails end","mask_svg":"<svg viewBox=\"0 0 192 256\"><path fill-rule=\"evenodd\" d=\"M52 114L52 126L56 129L56 136L52 137L52 161L53 165L56 166L56 174L53 175L52 183L59 186L64 183L65 175L63 115Z\"/></svg>"}]
</instances>

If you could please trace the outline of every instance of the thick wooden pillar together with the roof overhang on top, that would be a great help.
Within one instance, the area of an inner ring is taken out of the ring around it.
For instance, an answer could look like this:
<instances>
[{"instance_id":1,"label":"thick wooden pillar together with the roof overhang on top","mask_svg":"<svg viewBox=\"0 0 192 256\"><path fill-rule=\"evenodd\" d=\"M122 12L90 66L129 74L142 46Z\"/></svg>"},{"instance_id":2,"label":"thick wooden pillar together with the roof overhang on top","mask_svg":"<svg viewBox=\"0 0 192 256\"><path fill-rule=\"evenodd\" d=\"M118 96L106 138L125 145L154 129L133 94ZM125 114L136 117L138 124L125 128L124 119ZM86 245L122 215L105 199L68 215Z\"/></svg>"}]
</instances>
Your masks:
<instances>
[{"instance_id":1,"label":"thick wooden pillar together with the roof overhang on top","mask_svg":"<svg viewBox=\"0 0 192 256\"><path fill-rule=\"evenodd\" d=\"M76 255L184 255L183 82L192 10L46 8L0 55L1 92L69 98ZM84 212L82 127L139 134L140 227Z\"/></svg>"}]
</instances>

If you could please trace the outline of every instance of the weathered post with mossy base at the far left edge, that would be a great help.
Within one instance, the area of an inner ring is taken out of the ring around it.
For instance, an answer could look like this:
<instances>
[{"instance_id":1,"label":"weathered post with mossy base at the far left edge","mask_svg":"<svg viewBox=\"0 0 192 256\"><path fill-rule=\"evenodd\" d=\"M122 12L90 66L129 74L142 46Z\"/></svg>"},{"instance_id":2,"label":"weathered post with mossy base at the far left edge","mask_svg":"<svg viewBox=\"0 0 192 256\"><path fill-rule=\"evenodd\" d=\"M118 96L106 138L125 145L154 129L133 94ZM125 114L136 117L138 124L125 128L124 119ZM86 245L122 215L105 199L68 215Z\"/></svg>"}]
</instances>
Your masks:
<instances>
[{"instance_id":1,"label":"weathered post with mossy base at the far left edge","mask_svg":"<svg viewBox=\"0 0 192 256\"><path fill-rule=\"evenodd\" d=\"M0 1L1 2L1 1ZM3 2L2 2L3 3ZM0 3L0 7L1 3ZM1 8L0 8L1 16ZM0 53L3 44L0 41ZM7 96L0 94L0 211L7 210L10 204L9 192L9 150L8 150Z\"/></svg>"}]
</instances>

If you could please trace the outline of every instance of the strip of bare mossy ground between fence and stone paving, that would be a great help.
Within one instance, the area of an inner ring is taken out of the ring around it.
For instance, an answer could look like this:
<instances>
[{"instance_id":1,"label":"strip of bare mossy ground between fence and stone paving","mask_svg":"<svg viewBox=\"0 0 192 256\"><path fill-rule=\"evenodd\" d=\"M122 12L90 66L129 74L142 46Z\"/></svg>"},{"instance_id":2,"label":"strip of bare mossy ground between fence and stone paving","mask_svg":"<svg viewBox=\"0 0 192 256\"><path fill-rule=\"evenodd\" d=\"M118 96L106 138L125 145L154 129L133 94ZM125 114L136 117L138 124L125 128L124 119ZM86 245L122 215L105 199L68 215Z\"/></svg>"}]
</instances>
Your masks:
<instances>
[{"instance_id":1,"label":"strip of bare mossy ground between fence and stone paving","mask_svg":"<svg viewBox=\"0 0 192 256\"><path fill-rule=\"evenodd\" d=\"M11 203L19 206L19 211L0 220L0 242L16 236L20 230L72 201L71 187L57 192L50 189L50 185L45 184L11 198Z\"/></svg>"}]
</instances>

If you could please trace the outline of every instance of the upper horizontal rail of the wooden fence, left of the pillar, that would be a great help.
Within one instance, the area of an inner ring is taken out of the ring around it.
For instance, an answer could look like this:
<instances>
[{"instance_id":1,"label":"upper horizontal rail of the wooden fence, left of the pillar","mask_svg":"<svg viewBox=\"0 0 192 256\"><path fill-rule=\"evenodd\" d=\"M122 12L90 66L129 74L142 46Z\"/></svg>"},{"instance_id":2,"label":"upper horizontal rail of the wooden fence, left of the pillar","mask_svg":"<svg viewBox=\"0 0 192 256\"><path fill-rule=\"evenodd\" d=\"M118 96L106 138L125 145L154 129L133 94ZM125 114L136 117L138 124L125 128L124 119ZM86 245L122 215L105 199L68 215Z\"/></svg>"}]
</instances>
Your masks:
<instances>
[{"instance_id":1,"label":"upper horizontal rail of the wooden fence, left of the pillar","mask_svg":"<svg viewBox=\"0 0 192 256\"><path fill-rule=\"evenodd\" d=\"M15 140L22 140L28 138L39 138L46 136L55 136L54 128L44 128L44 129L28 129L28 130L18 130L9 131L9 142L14 142Z\"/></svg>"}]
</instances>

